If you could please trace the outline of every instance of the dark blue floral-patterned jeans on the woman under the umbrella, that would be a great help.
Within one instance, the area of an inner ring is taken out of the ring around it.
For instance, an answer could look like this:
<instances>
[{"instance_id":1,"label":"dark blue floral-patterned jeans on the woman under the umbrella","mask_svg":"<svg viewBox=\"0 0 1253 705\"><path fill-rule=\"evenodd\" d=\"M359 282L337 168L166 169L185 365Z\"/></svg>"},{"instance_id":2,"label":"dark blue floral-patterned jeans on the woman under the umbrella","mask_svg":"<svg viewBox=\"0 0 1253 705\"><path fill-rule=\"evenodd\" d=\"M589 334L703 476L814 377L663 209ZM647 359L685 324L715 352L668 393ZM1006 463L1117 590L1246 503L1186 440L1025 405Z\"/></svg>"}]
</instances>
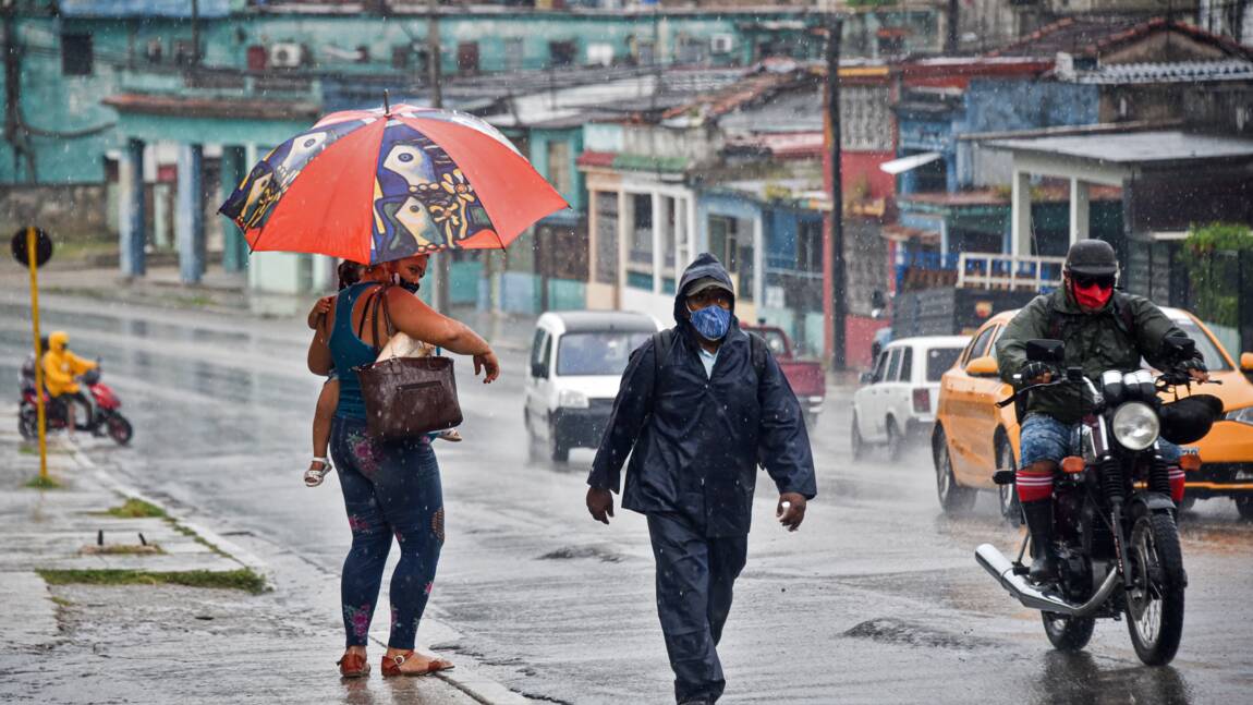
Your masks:
<instances>
[{"instance_id":1,"label":"dark blue floral-patterned jeans on the woman under the umbrella","mask_svg":"<svg viewBox=\"0 0 1253 705\"><path fill-rule=\"evenodd\" d=\"M366 435L366 422L336 417L331 456L340 473L352 550L343 561L340 591L348 646L370 635L392 537L400 562L392 572L392 649L412 649L444 546L440 465L426 437L385 442Z\"/></svg>"}]
</instances>

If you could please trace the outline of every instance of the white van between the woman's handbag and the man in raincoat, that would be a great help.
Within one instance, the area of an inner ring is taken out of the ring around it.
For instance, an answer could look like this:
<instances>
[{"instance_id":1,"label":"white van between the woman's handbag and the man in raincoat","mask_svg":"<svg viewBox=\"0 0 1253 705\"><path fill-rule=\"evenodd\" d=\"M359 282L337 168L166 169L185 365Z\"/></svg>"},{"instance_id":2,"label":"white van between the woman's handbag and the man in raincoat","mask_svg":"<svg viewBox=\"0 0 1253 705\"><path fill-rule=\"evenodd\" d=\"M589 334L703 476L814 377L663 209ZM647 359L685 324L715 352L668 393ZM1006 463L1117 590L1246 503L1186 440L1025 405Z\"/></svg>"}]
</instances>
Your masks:
<instances>
[{"instance_id":1,"label":"white van between the woman's handbag and the man in raincoat","mask_svg":"<svg viewBox=\"0 0 1253 705\"><path fill-rule=\"evenodd\" d=\"M652 316L620 311L563 311L535 322L526 378L531 448L565 462L570 448L596 447L632 351L660 326Z\"/></svg>"}]
</instances>

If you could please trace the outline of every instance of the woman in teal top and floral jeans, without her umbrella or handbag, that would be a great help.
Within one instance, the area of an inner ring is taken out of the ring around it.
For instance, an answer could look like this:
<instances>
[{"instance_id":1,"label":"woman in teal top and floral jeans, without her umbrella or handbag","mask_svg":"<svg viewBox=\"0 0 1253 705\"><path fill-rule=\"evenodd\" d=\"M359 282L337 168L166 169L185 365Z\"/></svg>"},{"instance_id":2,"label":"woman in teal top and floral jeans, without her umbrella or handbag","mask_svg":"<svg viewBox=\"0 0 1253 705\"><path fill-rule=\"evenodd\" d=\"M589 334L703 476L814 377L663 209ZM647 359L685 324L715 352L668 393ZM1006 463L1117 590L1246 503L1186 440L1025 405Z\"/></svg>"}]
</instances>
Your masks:
<instances>
[{"instance_id":1,"label":"woman in teal top and floral jeans, without her umbrella or handbag","mask_svg":"<svg viewBox=\"0 0 1253 705\"><path fill-rule=\"evenodd\" d=\"M427 255L377 264L363 280L340 292L326 323L309 343L308 366L326 374L341 371L340 402L331 427L331 455L340 473L352 530L343 562L341 597L347 651L340 661L346 677L370 672L366 642L392 536L401 558L391 579L391 637L383 675L422 675L452 667L442 659L415 656L417 625L435 581L444 545L440 468L426 436L387 442L366 435L361 383L352 369L370 364L387 341L375 339L371 299L387 297L391 324L410 337L450 352L474 356L475 373L490 383L500 374L491 347L464 323L441 316L400 287L385 287L402 268L426 268ZM382 328L382 322L380 322ZM360 331L360 337L356 331ZM347 371L346 373L343 371Z\"/></svg>"}]
</instances>

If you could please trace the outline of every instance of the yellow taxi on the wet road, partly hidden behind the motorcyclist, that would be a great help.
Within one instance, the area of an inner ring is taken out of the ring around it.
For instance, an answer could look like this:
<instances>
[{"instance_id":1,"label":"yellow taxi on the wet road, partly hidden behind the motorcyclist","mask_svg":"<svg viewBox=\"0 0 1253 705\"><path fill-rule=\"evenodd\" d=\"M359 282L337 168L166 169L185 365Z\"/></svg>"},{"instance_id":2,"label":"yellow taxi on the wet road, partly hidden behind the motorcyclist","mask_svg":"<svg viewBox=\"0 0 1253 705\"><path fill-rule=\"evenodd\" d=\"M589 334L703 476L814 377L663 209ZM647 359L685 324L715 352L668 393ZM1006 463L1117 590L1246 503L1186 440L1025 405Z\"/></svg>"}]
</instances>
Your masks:
<instances>
[{"instance_id":1,"label":"yellow taxi on the wet road, partly hidden behind the motorcyclist","mask_svg":"<svg viewBox=\"0 0 1253 705\"><path fill-rule=\"evenodd\" d=\"M1188 475L1185 505L1207 497L1232 497L1240 516L1253 521L1253 353L1243 353L1239 364L1223 349L1214 334L1195 316L1177 308L1162 309L1188 333L1205 358L1210 378L1204 393L1223 399L1224 417L1209 435L1194 443L1202 467ZM1017 521L1017 498L1012 485L997 486L997 470L1014 470L1019 457L1019 426L1014 407L996 402L1012 388L996 373L996 339L1016 311L997 313L971 337L956 364L940 378L940 402L931 455L936 491L946 512L969 510L979 490L995 490L1001 513ZM1173 398L1173 397L1172 397Z\"/></svg>"}]
</instances>

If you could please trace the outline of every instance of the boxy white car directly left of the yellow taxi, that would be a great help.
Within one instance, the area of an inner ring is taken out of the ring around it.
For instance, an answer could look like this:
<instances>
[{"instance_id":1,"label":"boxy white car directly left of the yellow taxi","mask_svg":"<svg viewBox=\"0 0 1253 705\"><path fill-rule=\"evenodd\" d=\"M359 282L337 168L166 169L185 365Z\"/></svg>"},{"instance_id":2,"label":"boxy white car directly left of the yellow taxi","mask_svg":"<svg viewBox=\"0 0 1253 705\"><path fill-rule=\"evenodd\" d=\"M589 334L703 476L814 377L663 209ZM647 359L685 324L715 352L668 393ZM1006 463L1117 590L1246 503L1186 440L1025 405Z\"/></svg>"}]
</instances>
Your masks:
<instances>
[{"instance_id":1,"label":"boxy white car directly left of the yellow taxi","mask_svg":"<svg viewBox=\"0 0 1253 705\"><path fill-rule=\"evenodd\" d=\"M930 437L940 377L969 342L969 336L902 338L878 353L873 372L862 374L862 387L853 394L853 458L875 443L886 445L896 460L907 438Z\"/></svg>"}]
</instances>

